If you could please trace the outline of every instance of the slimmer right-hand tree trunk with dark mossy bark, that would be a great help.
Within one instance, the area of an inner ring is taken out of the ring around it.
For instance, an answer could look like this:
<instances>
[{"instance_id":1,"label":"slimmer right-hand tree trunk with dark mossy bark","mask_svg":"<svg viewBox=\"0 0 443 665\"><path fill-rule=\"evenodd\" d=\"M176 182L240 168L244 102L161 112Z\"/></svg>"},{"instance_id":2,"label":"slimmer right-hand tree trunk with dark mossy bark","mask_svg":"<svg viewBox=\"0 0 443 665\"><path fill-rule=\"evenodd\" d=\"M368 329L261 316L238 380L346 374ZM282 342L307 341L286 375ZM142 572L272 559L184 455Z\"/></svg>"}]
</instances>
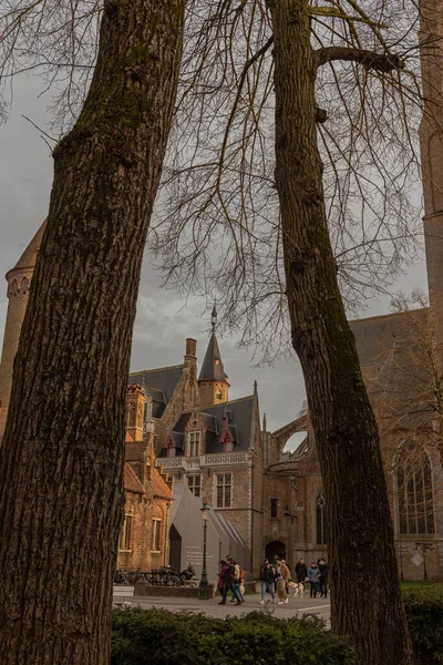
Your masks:
<instances>
[{"instance_id":1,"label":"slimmer right-hand tree trunk with dark mossy bark","mask_svg":"<svg viewBox=\"0 0 443 665\"><path fill-rule=\"evenodd\" d=\"M293 347L328 501L332 627L367 665L410 665L377 422L328 233L307 0L272 2L276 182Z\"/></svg>"}]
</instances>

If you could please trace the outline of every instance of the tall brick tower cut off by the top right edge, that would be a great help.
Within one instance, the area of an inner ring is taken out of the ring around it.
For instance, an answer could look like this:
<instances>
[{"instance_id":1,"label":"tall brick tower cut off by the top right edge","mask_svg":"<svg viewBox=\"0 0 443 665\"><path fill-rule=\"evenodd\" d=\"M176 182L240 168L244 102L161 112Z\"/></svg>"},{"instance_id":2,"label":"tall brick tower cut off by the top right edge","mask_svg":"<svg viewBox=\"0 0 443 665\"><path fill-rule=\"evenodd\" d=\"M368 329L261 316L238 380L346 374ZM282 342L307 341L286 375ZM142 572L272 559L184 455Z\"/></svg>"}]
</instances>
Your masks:
<instances>
[{"instance_id":1,"label":"tall brick tower cut off by the top right edge","mask_svg":"<svg viewBox=\"0 0 443 665\"><path fill-rule=\"evenodd\" d=\"M424 110L420 147L424 239L435 345L443 349L443 0L422 0L420 55Z\"/></svg>"}]
</instances>

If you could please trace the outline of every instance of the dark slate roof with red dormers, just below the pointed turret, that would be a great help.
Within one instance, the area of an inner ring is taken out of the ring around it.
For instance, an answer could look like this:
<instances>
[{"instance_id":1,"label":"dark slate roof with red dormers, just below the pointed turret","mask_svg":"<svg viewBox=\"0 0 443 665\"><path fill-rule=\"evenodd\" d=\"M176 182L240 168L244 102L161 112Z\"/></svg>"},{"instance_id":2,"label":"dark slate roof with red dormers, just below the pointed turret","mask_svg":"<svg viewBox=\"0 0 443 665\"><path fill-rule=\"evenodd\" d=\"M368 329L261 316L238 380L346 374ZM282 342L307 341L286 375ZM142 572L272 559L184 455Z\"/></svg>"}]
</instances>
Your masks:
<instances>
[{"instance_id":1,"label":"dark slate roof with red dormers, just below the pointed turret","mask_svg":"<svg viewBox=\"0 0 443 665\"><path fill-rule=\"evenodd\" d=\"M223 452L220 436L223 432L223 419L227 418L229 432L234 440L234 451L248 450L253 430L255 396L234 399L223 405L205 409L205 416L212 416L215 421L215 431L206 432L206 453ZM214 426L213 426L214 427Z\"/></svg>"}]
</instances>

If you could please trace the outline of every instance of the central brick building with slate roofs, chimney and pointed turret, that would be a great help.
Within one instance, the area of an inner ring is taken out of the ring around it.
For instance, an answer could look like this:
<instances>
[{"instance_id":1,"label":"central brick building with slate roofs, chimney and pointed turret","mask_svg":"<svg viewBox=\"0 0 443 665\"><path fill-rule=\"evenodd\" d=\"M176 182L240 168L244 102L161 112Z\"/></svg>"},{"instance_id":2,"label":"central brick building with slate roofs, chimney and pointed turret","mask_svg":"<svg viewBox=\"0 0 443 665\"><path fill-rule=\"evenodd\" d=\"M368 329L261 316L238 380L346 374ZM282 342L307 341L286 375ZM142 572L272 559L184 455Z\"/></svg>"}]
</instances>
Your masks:
<instances>
[{"instance_id":1,"label":"central brick building with slate roofs, chimney and pointed turret","mask_svg":"<svg viewBox=\"0 0 443 665\"><path fill-rule=\"evenodd\" d=\"M249 570L262 555L262 448L257 385L229 400L228 377L213 331L197 379L196 341L186 340L183 365L137 371L130 382L147 396L158 464L175 483L223 513L250 551Z\"/></svg>"}]
</instances>

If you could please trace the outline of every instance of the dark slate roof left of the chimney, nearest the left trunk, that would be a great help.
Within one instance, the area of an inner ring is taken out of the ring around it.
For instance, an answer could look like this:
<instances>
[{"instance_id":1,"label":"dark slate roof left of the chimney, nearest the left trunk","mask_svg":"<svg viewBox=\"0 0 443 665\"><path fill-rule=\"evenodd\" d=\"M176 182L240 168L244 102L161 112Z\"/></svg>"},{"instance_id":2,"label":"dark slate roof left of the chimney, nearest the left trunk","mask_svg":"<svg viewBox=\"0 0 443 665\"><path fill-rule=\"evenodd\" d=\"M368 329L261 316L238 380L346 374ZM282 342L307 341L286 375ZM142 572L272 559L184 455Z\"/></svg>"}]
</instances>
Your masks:
<instances>
[{"instance_id":1,"label":"dark slate roof left of the chimney, nearest the left trunk","mask_svg":"<svg viewBox=\"0 0 443 665\"><path fill-rule=\"evenodd\" d=\"M128 383L138 383L153 401L154 418L162 418L182 377L184 365L132 371Z\"/></svg>"}]
</instances>

